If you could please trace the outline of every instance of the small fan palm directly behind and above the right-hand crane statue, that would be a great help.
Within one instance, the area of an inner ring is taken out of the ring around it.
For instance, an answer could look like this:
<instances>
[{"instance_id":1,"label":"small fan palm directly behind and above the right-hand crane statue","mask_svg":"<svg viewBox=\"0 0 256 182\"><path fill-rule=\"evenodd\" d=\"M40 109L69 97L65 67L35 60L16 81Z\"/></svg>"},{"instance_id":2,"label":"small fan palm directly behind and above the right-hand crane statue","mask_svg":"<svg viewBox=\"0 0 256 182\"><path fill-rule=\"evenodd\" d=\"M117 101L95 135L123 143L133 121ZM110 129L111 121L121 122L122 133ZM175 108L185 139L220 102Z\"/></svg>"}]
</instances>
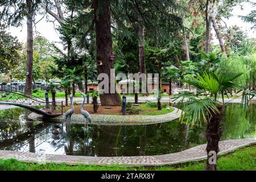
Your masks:
<instances>
[{"instance_id":1,"label":"small fan palm directly behind and above the right-hand crane statue","mask_svg":"<svg viewBox=\"0 0 256 182\"><path fill-rule=\"evenodd\" d=\"M82 69L81 67L75 67L74 69L64 68L64 80L72 83L72 92L75 97L76 88L75 84L82 80Z\"/></svg>"}]
</instances>

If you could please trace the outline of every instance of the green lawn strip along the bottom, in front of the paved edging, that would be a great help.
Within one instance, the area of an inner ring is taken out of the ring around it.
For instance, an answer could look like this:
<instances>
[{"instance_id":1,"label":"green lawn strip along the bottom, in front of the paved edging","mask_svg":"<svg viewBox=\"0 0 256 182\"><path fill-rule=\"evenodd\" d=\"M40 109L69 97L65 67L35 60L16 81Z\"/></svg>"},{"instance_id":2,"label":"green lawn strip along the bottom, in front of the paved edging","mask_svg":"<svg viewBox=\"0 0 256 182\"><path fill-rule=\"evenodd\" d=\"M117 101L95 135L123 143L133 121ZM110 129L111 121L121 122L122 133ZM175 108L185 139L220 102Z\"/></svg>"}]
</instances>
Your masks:
<instances>
[{"instance_id":1,"label":"green lawn strip along the bottom, in front of the paved edging","mask_svg":"<svg viewBox=\"0 0 256 182\"><path fill-rule=\"evenodd\" d=\"M241 148L233 153L220 156L217 160L217 168L219 171L249 171L256 170L256 145ZM0 159L0 171L201 171L205 167L205 161L189 162L178 164L175 166L162 167L125 167L125 166L84 166L84 165L68 165L68 164L38 164L38 163L22 163L15 159Z\"/></svg>"}]
</instances>

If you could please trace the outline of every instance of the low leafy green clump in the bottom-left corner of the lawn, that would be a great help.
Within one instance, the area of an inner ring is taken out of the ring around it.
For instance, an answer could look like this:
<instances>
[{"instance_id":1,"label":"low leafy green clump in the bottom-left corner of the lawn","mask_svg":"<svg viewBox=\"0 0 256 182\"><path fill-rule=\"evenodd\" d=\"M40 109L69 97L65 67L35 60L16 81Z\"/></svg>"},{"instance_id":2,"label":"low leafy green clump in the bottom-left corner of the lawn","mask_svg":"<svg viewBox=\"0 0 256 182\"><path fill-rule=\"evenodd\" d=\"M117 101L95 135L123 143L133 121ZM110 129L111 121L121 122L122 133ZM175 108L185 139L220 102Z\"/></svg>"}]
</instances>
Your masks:
<instances>
[{"instance_id":1,"label":"low leafy green clump in the bottom-left corner of the lawn","mask_svg":"<svg viewBox=\"0 0 256 182\"><path fill-rule=\"evenodd\" d=\"M26 164L18 162L16 159L0 160L0 171L25 171L28 170Z\"/></svg>"}]
</instances>

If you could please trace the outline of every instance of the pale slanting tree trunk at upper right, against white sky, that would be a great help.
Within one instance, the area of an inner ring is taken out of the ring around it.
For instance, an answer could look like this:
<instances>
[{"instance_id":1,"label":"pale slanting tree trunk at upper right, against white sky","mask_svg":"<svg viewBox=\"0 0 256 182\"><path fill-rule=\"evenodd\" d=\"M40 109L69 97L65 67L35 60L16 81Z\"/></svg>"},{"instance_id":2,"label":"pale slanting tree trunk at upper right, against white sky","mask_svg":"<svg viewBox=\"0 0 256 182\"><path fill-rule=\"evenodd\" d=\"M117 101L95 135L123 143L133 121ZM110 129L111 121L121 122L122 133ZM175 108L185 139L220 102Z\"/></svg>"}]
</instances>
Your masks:
<instances>
[{"instance_id":1,"label":"pale slanting tree trunk at upper right, against white sky","mask_svg":"<svg viewBox=\"0 0 256 182\"><path fill-rule=\"evenodd\" d=\"M213 14L213 6L214 6L214 2L213 2L213 0L210 0L209 19L212 21L212 26L213 26L214 31L216 32L218 42L220 43L221 51L225 52L224 42L223 42L222 36L220 34L220 31L218 30L216 20L215 20L214 14Z\"/></svg>"}]
</instances>

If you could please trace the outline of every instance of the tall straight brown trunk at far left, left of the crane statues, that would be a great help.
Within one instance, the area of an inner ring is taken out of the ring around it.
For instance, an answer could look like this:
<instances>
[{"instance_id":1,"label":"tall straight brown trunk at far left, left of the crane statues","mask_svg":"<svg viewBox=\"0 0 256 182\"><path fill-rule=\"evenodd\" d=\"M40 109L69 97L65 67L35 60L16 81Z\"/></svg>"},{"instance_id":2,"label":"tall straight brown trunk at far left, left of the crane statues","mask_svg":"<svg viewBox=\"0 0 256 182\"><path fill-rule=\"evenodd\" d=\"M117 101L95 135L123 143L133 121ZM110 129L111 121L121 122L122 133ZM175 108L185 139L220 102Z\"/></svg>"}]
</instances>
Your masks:
<instances>
[{"instance_id":1,"label":"tall straight brown trunk at far left, left of the crane statues","mask_svg":"<svg viewBox=\"0 0 256 182\"><path fill-rule=\"evenodd\" d=\"M33 79L33 10L32 0L26 1L28 6L27 14L27 77L25 84L25 94L31 95L32 93L32 79Z\"/></svg>"}]
</instances>

